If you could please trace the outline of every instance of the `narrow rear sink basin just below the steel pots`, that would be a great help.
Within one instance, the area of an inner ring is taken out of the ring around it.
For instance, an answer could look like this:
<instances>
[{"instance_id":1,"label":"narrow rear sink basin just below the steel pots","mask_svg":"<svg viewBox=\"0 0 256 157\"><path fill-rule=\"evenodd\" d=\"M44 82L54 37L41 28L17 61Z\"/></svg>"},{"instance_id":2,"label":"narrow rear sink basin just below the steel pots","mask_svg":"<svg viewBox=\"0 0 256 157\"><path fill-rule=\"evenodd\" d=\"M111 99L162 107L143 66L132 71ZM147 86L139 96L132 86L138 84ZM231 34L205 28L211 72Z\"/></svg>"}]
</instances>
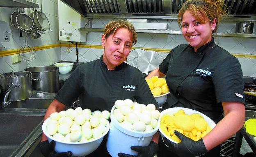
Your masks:
<instances>
[{"instance_id":1,"label":"narrow rear sink basin just below the steel pots","mask_svg":"<svg viewBox=\"0 0 256 157\"><path fill-rule=\"evenodd\" d=\"M10 102L4 108L41 108L47 109L53 99L27 99L17 102Z\"/></svg>"}]
</instances>

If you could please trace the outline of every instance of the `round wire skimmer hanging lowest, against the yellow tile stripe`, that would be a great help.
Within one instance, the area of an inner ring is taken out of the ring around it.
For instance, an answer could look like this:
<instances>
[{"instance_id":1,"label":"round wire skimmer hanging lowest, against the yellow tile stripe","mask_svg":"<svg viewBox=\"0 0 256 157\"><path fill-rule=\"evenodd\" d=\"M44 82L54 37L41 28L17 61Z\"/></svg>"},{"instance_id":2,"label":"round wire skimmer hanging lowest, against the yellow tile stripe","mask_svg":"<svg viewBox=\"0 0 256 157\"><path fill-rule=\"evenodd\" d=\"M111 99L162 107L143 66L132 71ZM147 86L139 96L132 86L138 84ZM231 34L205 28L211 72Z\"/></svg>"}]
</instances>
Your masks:
<instances>
[{"instance_id":1,"label":"round wire skimmer hanging lowest, against the yellow tile stripe","mask_svg":"<svg viewBox=\"0 0 256 157\"><path fill-rule=\"evenodd\" d=\"M34 47L29 46L27 42L27 33L25 35L25 46L22 46L20 49L20 56L22 60L27 62L32 61L35 59L37 53Z\"/></svg>"}]
</instances>

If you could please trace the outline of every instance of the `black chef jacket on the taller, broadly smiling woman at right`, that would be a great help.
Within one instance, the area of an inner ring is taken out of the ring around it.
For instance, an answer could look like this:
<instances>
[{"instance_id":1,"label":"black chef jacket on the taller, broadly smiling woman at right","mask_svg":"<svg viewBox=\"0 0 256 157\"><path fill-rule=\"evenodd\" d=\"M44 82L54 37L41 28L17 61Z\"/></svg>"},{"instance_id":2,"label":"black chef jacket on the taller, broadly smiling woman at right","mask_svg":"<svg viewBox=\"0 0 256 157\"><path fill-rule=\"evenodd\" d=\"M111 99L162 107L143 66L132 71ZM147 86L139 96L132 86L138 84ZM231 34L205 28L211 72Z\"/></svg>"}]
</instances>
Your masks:
<instances>
[{"instance_id":1,"label":"black chef jacket on the taller, broadly smiling woman at right","mask_svg":"<svg viewBox=\"0 0 256 157\"><path fill-rule=\"evenodd\" d=\"M213 38L197 52L189 44L175 47L159 70L166 74L170 90L163 110L191 108L217 123L222 118L222 102L245 103L240 63Z\"/></svg>"}]
</instances>

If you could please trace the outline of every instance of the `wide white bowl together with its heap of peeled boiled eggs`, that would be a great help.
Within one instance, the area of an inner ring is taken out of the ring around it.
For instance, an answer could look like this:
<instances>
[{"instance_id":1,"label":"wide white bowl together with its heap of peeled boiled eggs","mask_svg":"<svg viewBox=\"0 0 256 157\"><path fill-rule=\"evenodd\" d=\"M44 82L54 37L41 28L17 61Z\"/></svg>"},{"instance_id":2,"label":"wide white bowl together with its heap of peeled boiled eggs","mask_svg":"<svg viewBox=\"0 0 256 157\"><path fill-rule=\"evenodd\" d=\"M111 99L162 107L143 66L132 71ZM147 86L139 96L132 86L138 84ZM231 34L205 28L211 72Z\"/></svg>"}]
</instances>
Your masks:
<instances>
[{"instance_id":1,"label":"wide white bowl together with its heap of peeled boiled eggs","mask_svg":"<svg viewBox=\"0 0 256 157\"><path fill-rule=\"evenodd\" d=\"M55 141L57 153L71 151L82 157L100 146L110 129L108 111L94 111L81 107L55 112L43 122L42 130L48 141Z\"/></svg>"}]
</instances>

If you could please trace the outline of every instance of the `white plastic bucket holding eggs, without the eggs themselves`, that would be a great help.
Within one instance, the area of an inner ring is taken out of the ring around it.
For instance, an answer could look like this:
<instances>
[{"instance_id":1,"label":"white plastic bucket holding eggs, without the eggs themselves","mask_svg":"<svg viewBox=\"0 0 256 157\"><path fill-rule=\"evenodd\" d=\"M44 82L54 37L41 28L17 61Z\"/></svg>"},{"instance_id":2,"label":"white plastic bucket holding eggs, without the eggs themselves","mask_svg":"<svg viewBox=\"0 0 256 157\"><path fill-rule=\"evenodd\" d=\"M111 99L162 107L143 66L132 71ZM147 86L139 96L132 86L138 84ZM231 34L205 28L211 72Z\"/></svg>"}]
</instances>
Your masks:
<instances>
[{"instance_id":1,"label":"white plastic bucket holding eggs, without the eggs themselves","mask_svg":"<svg viewBox=\"0 0 256 157\"><path fill-rule=\"evenodd\" d=\"M151 142L153 135L158 131L160 122L158 125L150 131L135 131L127 130L123 128L121 124L114 118L115 106L112 107L110 113L110 130L107 137L107 151L112 157L118 157L118 153L126 153L130 155L138 155L134 150L131 150L131 146L148 146Z\"/></svg>"}]
</instances>

